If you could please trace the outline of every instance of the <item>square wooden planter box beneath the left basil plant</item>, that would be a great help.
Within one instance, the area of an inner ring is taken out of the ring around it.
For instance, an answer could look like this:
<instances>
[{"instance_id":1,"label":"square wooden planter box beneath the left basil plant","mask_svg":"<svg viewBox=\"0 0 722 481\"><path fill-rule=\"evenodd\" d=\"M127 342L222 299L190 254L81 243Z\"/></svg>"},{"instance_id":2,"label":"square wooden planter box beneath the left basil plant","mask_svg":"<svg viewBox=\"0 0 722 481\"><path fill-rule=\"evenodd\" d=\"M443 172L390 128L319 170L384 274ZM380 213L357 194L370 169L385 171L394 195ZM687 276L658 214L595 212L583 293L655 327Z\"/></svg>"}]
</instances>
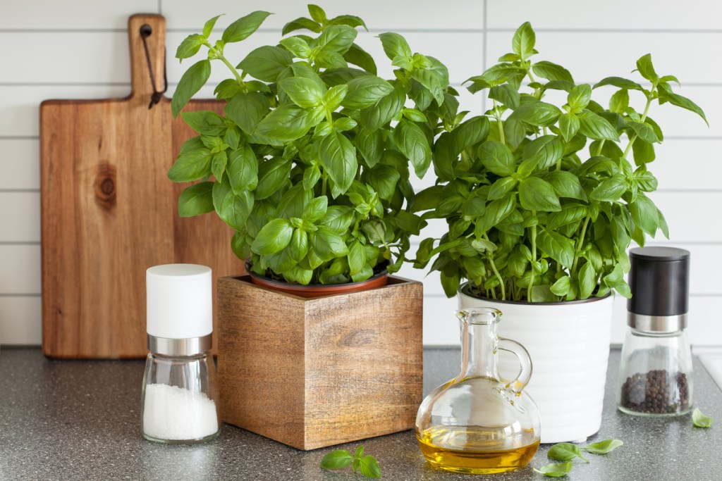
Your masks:
<instances>
[{"instance_id":1,"label":"square wooden planter box beneath the left basil plant","mask_svg":"<svg viewBox=\"0 0 722 481\"><path fill-rule=\"evenodd\" d=\"M422 402L417 281L303 299L218 280L222 418L297 449L414 428Z\"/></svg>"}]
</instances>

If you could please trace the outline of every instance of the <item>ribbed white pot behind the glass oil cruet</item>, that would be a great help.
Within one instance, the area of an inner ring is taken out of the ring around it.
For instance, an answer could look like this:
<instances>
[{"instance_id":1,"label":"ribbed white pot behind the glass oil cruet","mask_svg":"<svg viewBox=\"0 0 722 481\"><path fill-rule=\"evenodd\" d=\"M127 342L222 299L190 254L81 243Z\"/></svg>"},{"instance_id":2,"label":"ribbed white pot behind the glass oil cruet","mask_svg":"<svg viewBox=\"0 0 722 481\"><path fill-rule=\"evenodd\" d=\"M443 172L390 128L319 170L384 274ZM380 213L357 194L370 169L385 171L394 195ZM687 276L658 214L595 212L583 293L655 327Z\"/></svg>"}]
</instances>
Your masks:
<instances>
[{"instance_id":1,"label":"ribbed white pot behind the glass oil cruet","mask_svg":"<svg viewBox=\"0 0 722 481\"><path fill-rule=\"evenodd\" d=\"M529 351L526 392L539 406L541 442L584 441L599 431L604 401L614 296L588 301L492 301L458 290L459 309L494 307L503 317L497 335ZM500 375L513 379L518 361L499 356Z\"/></svg>"}]
</instances>

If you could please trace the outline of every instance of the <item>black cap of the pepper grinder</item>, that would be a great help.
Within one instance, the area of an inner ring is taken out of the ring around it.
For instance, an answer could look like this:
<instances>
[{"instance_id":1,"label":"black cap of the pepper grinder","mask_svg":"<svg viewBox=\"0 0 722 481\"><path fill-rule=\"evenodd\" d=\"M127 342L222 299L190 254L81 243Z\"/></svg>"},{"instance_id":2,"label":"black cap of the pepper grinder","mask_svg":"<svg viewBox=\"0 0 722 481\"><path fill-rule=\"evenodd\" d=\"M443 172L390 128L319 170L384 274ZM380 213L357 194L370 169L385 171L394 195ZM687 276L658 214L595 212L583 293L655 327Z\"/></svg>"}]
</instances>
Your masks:
<instances>
[{"instance_id":1,"label":"black cap of the pepper grinder","mask_svg":"<svg viewBox=\"0 0 722 481\"><path fill-rule=\"evenodd\" d=\"M630 250L627 311L646 316L687 314L690 297L690 251L677 247Z\"/></svg>"}]
</instances>

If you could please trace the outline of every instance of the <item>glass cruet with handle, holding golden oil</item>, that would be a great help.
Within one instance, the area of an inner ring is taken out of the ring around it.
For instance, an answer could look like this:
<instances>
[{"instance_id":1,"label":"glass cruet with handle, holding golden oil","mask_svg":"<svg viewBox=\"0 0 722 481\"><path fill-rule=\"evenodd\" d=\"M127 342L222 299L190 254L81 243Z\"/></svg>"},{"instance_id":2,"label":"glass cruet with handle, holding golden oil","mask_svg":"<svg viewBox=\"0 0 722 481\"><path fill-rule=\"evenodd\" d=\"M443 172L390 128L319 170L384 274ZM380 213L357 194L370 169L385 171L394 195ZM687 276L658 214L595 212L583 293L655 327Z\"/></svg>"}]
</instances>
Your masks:
<instances>
[{"instance_id":1,"label":"glass cruet with handle, holding golden oil","mask_svg":"<svg viewBox=\"0 0 722 481\"><path fill-rule=\"evenodd\" d=\"M421 451L434 467L492 474L526 466L539 449L539 409L523 388L531 358L516 341L497 337L497 309L456 312L461 320L461 374L434 389L416 418ZM516 355L521 369L504 381L497 348Z\"/></svg>"}]
</instances>

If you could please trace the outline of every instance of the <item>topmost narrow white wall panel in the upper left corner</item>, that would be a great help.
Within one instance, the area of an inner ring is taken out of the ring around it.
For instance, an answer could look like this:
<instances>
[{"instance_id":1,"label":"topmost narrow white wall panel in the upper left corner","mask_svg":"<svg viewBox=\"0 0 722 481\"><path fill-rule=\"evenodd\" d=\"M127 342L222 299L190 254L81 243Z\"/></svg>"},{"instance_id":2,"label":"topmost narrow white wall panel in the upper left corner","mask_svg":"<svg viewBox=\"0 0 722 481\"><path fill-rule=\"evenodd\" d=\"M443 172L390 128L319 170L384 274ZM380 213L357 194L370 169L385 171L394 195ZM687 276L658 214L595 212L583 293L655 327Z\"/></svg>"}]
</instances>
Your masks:
<instances>
[{"instance_id":1,"label":"topmost narrow white wall panel in the upper left corner","mask_svg":"<svg viewBox=\"0 0 722 481\"><path fill-rule=\"evenodd\" d=\"M124 29L132 14L157 12L158 0L4 1L0 30Z\"/></svg>"}]
</instances>

